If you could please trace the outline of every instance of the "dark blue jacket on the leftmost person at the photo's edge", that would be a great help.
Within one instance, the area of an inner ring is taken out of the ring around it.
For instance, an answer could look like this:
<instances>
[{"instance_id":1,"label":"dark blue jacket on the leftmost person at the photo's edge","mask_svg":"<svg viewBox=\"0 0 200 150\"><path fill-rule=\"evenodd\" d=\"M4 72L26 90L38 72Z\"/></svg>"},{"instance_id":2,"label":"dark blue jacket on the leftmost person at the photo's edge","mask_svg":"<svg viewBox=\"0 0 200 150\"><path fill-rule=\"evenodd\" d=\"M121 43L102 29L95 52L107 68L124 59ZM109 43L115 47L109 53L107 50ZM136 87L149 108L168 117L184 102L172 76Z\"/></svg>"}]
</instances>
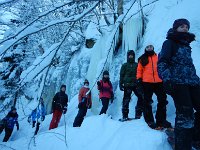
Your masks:
<instances>
[{"instance_id":1,"label":"dark blue jacket on the leftmost person at the photo's edge","mask_svg":"<svg viewBox=\"0 0 200 150\"><path fill-rule=\"evenodd\" d=\"M5 123L5 127L13 129L14 125L19 126L18 124L18 114L10 111L5 118L3 118L3 122Z\"/></svg>"}]
</instances>

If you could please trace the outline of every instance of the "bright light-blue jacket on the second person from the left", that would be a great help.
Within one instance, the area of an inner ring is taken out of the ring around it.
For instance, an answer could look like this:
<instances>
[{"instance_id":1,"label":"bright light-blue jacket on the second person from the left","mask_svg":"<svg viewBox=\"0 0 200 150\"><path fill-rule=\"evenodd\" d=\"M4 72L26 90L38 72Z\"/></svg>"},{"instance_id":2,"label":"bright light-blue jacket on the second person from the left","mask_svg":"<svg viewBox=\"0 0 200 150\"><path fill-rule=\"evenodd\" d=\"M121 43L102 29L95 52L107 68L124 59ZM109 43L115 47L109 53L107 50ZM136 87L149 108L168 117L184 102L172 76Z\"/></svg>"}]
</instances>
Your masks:
<instances>
[{"instance_id":1,"label":"bright light-blue jacket on the second person from the left","mask_svg":"<svg viewBox=\"0 0 200 150\"><path fill-rule=\"evenodd\" d=\"M46 115L45 107L44 105L40 105L31 112L31 114L29 115L29 118L31 118L32 121L36 121L36 119L40 119L41 116L45 116L45 115Z\"/></svg>"}]
</instances>

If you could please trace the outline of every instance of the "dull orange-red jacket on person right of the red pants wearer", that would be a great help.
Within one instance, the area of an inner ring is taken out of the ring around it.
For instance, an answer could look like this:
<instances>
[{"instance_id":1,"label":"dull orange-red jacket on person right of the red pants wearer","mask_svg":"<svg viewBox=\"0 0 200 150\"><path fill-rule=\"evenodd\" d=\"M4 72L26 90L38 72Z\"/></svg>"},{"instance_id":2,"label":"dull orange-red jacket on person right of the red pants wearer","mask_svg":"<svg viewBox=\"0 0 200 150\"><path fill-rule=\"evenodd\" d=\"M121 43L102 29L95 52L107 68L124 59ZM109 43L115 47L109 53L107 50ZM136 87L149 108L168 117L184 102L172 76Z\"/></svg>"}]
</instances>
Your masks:
<instances>
[{"instance_id":1,"label":"dull orange-red jacket on person right of the red pants wearer","mask_svg":"<svg viewBox=\"0 0 200 150\"><path fill-rule=\"evenodd\" d=\"M91 100L91 92L86 96L86 93L90 90L90 88L82 87L79 91L78 95L78 101L79 103L82 102L83 97L87 97L86 106L92 106L92 100Z\"/></svg>"}]
</instances>

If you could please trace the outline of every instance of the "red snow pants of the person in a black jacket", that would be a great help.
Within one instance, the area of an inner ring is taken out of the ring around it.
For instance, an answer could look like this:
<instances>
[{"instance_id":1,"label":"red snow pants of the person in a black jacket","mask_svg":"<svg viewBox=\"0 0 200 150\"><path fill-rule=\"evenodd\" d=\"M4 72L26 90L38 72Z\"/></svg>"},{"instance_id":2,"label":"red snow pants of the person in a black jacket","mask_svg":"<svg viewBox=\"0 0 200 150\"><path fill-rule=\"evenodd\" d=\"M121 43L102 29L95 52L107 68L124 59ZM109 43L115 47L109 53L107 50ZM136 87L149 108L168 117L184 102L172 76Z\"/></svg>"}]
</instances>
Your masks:
<instances>
[{"instance_id":1,"label":"red snow pants of the person in a black jacket","mask_svg":"<svg viewBox=\"0 0 200 150\"><path fill-rule=\"evenodd\" d=\"M60 110L54 110L53 117L49 126L49 130L57 128L58 123L60 122L60 118L62 116L62 111Z\"/></svg>"}]
</instances>

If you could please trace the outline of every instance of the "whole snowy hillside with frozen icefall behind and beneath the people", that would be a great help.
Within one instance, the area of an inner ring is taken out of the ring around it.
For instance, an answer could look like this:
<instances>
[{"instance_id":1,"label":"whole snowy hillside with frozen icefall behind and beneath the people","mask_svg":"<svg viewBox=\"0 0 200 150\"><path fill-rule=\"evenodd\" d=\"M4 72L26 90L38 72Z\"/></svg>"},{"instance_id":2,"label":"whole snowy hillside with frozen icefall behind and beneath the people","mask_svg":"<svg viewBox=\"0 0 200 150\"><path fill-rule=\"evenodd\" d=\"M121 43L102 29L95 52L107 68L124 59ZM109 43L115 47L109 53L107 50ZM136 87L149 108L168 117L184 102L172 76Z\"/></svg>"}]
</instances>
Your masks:
<instances>
[{"instance_id":1,"label":"whole snowy hillside with frozen icefall behind and beneath the people","mask_svg":"<svg viewBox=\"0 0 200 150\"><path fill-rule=\"evenodd\" d=\"M136 60L148 44L153 44L155 51L158 53L161 50L168 29L172 27L173 21L178 18L187 18L191 24L190 32L196 35L196 41L191 44L191 47L197 74L200 76L200 1L143 0L143 11L147 16L143 37L141 34L141 15L137 13L139 9L138 4L130 7L134 0L126 0L125 2L125 15L122 15L121 18L119 17L115 24L111 20L113 24L106 26L103 18L99 20L99 23L103 26L101 29L102 34L99 33L99 30L94 29L94 24L91 23L88 26L85 36L86 38L96 39L93 48L88 49L82 45L79 47L80 50L76 52L79 48L70 47L74 52L70 56L67 55L66 51L64 53L66 55L61 55L62 52L58 51L60 62L62 64L67 62L67 64L64 66L59 66L60 64L55 65L48 70L50 74L47 76L45 76L45 71L47 71L45 67L50 63L52 55L57 52L54 51L50 55L48 53L51 53L51 50L54 50L55 47L57 48L58 45L55 44L46 49L41 56L29 63L29 66L26 65L27 69L23 71L20 81L29 82L26 84L30 85L30 88L27 88L25 92L30 94L34 101L30 102L25 96L19 98L16 107L19 114L20 129L19 131L14 129L9 142L0 142L0 150L171 150L165 133L150 129L143 118L123 123L118 121L121 118L123 98L123 93L118 86L119 71L121 65L126 62L126 52L128 49L136 51ZM119 22L121 21L125 23L123 27L124 39L122 47L116 52L114 47L118 41ZM139 43L138 40L140 41ZM34 65L39 63L40 59L44 57L45 59L49 58L49 60L44 61L38 68L34 68ZM3 67L0 66L1 68ZM29 78L22 80L22 77L25 77L26 73L31 69L44 70L41 75L32 81L31 79L37 72L27 75ZM115 99L113 104L109 105L108 114L99 116L101 102L98 98L96 81L101 79L103 69L108 69L110 72ZM82 126L80 128L73 128L72 124L78 112L77 94L85 78L89 80L90 88L92 88L93 107L87 112ZM39 81L44 82L44 79L49 80L47 83L49 89L43 90L44 86L38 84ZM70 98L68 111L66 115L62 116L59 127L49 131L49 124L52 118L52 114L49 114L52 96L59 90L59 86L62 83L67 85L66 93ZM0 88L2 85L3 83L0 82ZM2 92L5 91L2 90ZM34 128L27 122L27 117L31 110L37 106L37 98L42 95L42 92L44 92L43 96L48 115L46 115L46 119L42 122L38 135L34 137ZM153 100L153 112L155 112L157 104L155 95ZM0 108L9 103L8 101L2 102ZM170 96L168 96L168 101L167 120L174 125L175 108ZM130 117L135 115L135 104L136 97L132 95ZM0 118L3 118L7 111L1 112ZM0 141L2 141L3 137L4 132L0 134Z\"/></svg>"}]
</instances>

